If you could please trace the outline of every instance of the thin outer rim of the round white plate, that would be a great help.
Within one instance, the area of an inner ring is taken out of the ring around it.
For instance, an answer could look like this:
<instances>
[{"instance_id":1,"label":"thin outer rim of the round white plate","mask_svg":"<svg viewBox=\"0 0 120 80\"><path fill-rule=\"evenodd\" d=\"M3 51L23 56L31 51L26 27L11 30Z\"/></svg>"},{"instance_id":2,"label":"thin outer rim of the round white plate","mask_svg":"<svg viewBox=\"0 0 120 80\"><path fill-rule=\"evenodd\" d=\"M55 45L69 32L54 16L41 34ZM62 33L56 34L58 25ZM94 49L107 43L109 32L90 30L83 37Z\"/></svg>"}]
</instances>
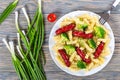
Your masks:
<instances>
[{"instance_id":1,"label":"thin outer rim of the round white plate","mask_svg":"<svg viewBox=\"0 0 120 80\"><path fill-rule=\"evenodd\" d=\"M91 74L87 74L87 75L77 75L77 74L73 74L73 73L70 73L70 72L67 72L65 69L63 69L63 68L65 68L65 67L62 67L62 66L60 66L59 64L60 63L57 63L57 61L55 60L55 57L52 55L52 52L51 52L51 46L50 46L50 41L51 41L51 35L52 35L52 31L53 31L53 29L54 29L54 27L55 27L55 25L57 25L57 23L59 23L64 17L66 17L67 15L70 15L70 14L73 14L73 13L77 13L77 12L85 12L85 13L92 13L93 15L96 15L96 16L98 16L99 18L100 18L100 16L97 14L97 13L94 13L94 12L91 12L91 11L86 11L86 10L77 10L77 11L72 11L72 12L69 12L69 13L67 13L67 14L65 14L65 15L63 15L62 17L60 17L56 22L55 22L55 24L53 25L53 27L52 27L52 29L51 29L51 31L50 31L50 35L49 35L49 42L48 42L48 46L49 46L49 52L50 52L50 56L52 57L52 60L54 61L54 63L62 70L62 71L64 71L64 72L66 72L66 73L68 73L68 74L71 74L71 75L74 75L74 76L89 76L89 75L93 75L93 74L95 74L95 73L98 73L99 71L101 71L103 68L105 68L107 65L108 65L108 63L110 62L110 60L112 59L112 56L113 56L113 53L114 53L114 49L115 49L115 38L114 38L114 34L113 34L113 31L112 31L112 29L111 29L111 26L108 24L108 22L106 22L105 23L105 25L107 25L108 26L108 28L110 29L110 31L111 31L111 35L112 35L112 38L113 39L111 39L111 40L113 40L112 42L112 45L113 45L113 50L112 50L112 52L109 54L109 56L110 56L110 58L108 59L108 61L106 62L106 64L104 65L104 66L100 66L100 67L102 67L102 68L100 68L100 69L97 69L97 71L95 71L95 72L93 72L93 73L91 73ZM105 26L106 27L106 26ZM111 41L110 40L110 41ZM55 53L55 52L54 52ZM102 64L103 65L103 64ZM97 67L97 68L99 68L99 66ZM82 70L81 70L82 71ZM74 72L74 71L72 71L72 72ZM75 71L76 72L76 71ZM89 71L88 71L89 72Z\"/></svg>"}]
</instances>

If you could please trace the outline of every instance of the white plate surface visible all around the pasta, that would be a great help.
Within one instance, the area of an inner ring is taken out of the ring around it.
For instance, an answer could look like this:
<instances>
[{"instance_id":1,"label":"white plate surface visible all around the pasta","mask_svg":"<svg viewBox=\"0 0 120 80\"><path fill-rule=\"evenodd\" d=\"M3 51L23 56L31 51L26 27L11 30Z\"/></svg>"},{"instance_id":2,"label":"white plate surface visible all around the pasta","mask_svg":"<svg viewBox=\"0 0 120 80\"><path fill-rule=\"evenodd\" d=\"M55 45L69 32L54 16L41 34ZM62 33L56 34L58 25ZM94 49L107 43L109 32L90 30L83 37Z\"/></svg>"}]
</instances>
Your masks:
<instances>
[{"instance_id":1,"label":"white plate surface visible all around the pasta","mask_svg":"<svg viewBox=\"0 0 120 80\"><path fill-rule=\"evenodd\" d=\"M74 16L79 16L81 14L85 14L85 13L88 13L90 15L96 15L98 17L100 17L99 15L93 13L93 12L90 12L90 11L74 11L74 12L70 12L66 15L64 15L63 17L61 17L56 23L55 25L53 26L52 30L51 30L51 33L50 33L50 36L49 36L49 50L50 50L50 55L53 59L53 61L56 63L56 65L62 69L63 71L65 71L66 73L69 73L71 75L75 75L75 76L88 76L88 75L92 75L92 74L95 74L97 73L98 71L102 70L107 64L108 62L110 61L110 59L112 58L112 55L113 55L113 52L114 52L114 46L115 46L115 40L114 40L114 35L113 35L113 32L112 32L112 29L110 28L110 25L106 22L104 24L104 26L110 30L110 44L109 44L109 48L110 48L110 54L108 56L105 57L105 62L104 64L102 64L101 66L97 67L97 68L94 68L88 72L86 72L85 70L79 70L79 71L71 71L70 69L68 69L67 67L63 67L60 63L58 63L58 61L56 60L56 55L55 55L55 52L52 50L52 47L53 45L55 44L55 41L53 40L53 37L55 35L55 31L59 28L59 25L60 25L60 22L66 18L66 17L74 17Z\"/></svg>"}]
</instances>

